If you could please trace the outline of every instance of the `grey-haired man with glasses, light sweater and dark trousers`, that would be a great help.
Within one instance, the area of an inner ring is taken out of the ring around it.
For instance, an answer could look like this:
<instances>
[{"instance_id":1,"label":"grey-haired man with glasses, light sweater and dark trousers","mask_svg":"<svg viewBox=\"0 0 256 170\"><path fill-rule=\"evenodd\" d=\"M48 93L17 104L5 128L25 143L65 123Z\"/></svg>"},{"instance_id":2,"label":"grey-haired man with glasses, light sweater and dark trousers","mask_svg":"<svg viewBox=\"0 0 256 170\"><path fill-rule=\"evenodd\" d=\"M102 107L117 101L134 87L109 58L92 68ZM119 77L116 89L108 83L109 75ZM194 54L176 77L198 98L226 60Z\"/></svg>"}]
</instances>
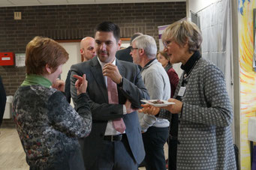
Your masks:
<instances>
[{"instance_id":1,"label":"grey-haired man with glasses, light sweater and dark trousers","mask_svg":"<svg viewBox=\"0 0 256 170\"><path fill-rule=\"evenodd\" d=\"M170 81L164 67L156 60L157 46L153 37L140 35L131 43L131 56L142 67L141 76L152 100L170 98ZM164 144L169 136L170 122L154 115L139 113L146 152L146 170L165 168Z\"/></svg>"}]
</instances>

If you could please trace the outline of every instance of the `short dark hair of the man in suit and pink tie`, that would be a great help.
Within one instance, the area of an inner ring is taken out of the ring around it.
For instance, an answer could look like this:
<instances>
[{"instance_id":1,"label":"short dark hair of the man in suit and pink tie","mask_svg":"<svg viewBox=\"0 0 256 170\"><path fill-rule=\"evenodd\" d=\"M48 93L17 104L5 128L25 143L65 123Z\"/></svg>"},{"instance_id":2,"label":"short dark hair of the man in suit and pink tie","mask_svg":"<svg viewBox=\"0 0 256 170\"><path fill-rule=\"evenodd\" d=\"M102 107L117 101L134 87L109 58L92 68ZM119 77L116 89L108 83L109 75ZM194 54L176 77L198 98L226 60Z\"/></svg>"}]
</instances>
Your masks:
<instances>
[{"instance_id":1,"label":"short dark hair of the man in suit and pink tie","mask_svg":"<svg viewBox=\"0 0 256 170\"><path fill-rule=\"evenodd\" d=\"M118 25L114 24L113 22L109 22L109 21L101 22L95 28L95 32L96 31L113 32L113 35L116 38L116 42L120 40L120 28Z\"/></svg>"}]
</instances>

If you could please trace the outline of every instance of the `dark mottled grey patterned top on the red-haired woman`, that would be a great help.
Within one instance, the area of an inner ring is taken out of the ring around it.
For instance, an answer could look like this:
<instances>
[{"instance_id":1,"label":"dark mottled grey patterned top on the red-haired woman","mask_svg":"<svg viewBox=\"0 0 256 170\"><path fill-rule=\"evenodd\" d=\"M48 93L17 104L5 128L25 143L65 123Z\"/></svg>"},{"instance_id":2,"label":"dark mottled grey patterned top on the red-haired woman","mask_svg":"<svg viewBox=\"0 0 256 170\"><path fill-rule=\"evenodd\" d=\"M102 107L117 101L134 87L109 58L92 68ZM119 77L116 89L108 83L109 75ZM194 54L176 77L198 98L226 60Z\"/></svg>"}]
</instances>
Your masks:
<instances>
[{"instance_id":1,"label":"dark mottled grey patterned top on the red-haired woman","mask_svg":"<svg viewBox=\"0 0 256 170\"><path fill-rule=\"evenodd\" d=\"M18 88L12 115L29 166L53 169L53 164L65 165L71 153L80 150L77 138L88 136L92 128L87 98L86 94L77 97L77 113L65 95L54 88Z\"/></svg>"}]
</instances>

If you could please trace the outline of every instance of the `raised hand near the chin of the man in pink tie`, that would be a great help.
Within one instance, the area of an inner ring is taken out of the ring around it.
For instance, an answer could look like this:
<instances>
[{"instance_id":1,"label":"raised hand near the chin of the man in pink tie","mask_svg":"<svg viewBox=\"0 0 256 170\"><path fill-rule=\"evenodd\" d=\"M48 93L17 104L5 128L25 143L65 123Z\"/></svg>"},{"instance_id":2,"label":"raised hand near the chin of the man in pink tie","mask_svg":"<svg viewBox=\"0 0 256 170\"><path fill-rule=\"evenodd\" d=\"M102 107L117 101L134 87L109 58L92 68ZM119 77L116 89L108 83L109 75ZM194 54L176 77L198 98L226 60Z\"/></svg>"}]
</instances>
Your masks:
<instances>
[{"instance_id":1,"label":"raised hand near the chin of the man in pink tie","mask_svg":"<svg viewBox=\"0 0 256 170\"><path fill-rule=\"evenodd\" d=\"M118 67L112 63L107 63L102 69L103 76L108 76L113 82L119 84L121 82L122 76L119 73Z\"/></svg>"}]
</instances>

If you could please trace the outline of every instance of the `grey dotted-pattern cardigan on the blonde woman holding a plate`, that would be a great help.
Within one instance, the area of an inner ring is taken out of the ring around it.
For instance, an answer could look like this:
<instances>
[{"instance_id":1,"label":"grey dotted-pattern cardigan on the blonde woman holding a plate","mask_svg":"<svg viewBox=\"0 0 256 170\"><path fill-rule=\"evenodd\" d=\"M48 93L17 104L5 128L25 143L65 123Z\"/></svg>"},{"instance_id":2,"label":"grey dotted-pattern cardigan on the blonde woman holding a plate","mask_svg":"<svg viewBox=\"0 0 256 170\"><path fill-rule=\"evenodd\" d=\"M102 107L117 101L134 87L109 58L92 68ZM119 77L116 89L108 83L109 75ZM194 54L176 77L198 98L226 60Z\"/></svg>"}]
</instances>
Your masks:
<instances>
[{"instance_id":1,"label":"grey dotted-pattern cardigan on the blonde woman holding a plate","mask_svg":"<svg viewBox=\"0 0 256 170\"><path fill-rule=\"evenodd\" d=\"M179 80L175 98L183 81ZM231 123L233 111L224 75L210 61L200 58L184 78L186 91L179 113L177 169L236 169ZM161 118L171 118L161 112Z\"/></svg>"}]
</instances>

